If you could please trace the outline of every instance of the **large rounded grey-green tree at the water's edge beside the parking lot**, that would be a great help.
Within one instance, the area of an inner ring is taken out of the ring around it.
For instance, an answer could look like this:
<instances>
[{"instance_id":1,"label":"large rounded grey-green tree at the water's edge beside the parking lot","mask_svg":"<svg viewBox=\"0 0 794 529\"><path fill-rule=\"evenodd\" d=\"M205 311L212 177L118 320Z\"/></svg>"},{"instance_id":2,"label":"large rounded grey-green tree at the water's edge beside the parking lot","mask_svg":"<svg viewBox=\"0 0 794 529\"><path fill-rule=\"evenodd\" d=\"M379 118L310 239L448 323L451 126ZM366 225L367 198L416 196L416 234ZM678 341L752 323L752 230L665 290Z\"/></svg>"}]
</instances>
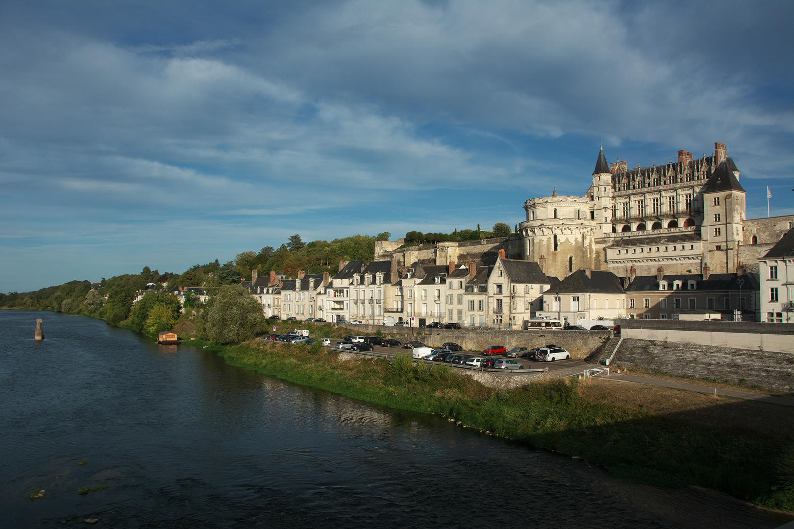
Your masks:
<instances>
[{"instance_id":1,"label":"large rounded grey-green tree at the water's edge beside the parking lot","mask_svg":"<svg viewBox=\"0 0 794 529\"><path fill-rule=\"evenodd\" d=\"M259 300L238 285L222 286L206 312L207 337L218 343L244 342L266 325Z\"/></svg>"}]
</instances>

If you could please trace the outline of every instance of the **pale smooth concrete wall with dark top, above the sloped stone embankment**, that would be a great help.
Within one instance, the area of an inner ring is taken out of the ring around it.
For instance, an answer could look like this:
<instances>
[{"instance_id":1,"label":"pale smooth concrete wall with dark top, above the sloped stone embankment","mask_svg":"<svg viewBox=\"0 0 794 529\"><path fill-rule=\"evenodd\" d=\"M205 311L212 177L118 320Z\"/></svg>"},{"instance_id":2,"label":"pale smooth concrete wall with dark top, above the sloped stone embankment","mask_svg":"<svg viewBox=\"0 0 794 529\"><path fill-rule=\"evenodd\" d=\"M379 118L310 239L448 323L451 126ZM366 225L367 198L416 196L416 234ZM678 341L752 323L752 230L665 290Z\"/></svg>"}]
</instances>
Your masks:
<instances>
[{"instance_id":1,"label":"pale smooth concrete wall with dark top, above the sloped stone embankment","mask_svg":"<svg viewBox=\"0 0 794 529\"><path fill-rule=\"evenodd\" d=\"M794 354L794 325L734 321L623 320L626 339Z\"/></svg>"}]
</instances>

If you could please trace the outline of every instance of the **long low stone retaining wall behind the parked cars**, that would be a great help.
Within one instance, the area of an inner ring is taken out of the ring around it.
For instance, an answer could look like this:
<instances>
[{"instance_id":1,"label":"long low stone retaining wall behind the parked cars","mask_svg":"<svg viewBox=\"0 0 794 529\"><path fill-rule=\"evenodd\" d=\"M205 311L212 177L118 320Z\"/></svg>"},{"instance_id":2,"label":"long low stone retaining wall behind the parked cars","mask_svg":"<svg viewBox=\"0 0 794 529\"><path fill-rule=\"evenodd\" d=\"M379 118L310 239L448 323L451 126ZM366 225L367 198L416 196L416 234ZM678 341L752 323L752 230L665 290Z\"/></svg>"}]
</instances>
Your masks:
<instances>
[{"instance_id":1,"label":"long low stone retaining wall behind the parked cars","mask_svg":"<svg viewBox=\"0 0 794 529\"><path fill-rule=\"evenodd\" d=\"M441 343L455 342L465 351L482 351L492 345L503 345L508 350L513 347L543 347L549 343L565 347L571 358L587 358L611 337L610 331L483 331L446 329L427 329L408 327L387 327L384 325L350 325L353 335L374 336L380 331L384 338L396 338L403 342L416 339L430 347L441 347Z\"/></svg>"}]
</instances>

